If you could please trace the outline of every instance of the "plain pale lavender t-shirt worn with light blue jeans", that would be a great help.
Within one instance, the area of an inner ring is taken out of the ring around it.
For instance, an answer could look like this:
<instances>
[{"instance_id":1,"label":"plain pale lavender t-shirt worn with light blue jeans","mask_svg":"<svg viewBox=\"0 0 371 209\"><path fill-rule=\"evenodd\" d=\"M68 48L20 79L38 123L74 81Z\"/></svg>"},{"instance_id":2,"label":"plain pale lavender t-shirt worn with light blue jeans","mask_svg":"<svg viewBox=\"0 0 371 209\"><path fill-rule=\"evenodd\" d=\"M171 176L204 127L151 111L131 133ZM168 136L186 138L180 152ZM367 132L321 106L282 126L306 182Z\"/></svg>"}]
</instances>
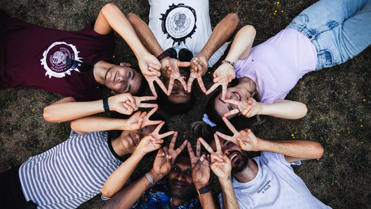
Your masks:
<instances>
[{"instance_id":1,"label":"plain pale lavender t-shirt worn with light blue jeans","mask_svg":"<svg viewBox=\"0 0 371 209\"><path fill-rule=\"evenodd\" d=\"M251 49L236 63L236 77L249 77L259 90L259 102L284 99L305 73L315 70L317 51L303 34L284 29Z\"/></svg>"}]
</instances>

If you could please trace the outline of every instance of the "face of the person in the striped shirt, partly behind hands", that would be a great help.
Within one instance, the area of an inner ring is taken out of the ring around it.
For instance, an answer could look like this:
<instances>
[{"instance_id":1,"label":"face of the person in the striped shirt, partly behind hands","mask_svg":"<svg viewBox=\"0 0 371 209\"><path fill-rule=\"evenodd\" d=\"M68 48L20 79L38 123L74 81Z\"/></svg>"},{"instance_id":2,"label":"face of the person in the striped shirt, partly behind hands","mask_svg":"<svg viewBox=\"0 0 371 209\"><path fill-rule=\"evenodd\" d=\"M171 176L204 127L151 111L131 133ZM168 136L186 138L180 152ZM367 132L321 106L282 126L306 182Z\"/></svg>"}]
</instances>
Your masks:
<instances>
[{"instance_id":1,"label":"face of the person in the striped shirt, partly behind hands","mask_svg":"<svg viewBox=\"0 0 371 209\"><path fill-rule=\"evenodd\" d=\"M156 129L156 125L149 125L135 131L123 131L121 133L121 143L129 153L134 152L139 141Z\"/></svg>"}]
</instances>

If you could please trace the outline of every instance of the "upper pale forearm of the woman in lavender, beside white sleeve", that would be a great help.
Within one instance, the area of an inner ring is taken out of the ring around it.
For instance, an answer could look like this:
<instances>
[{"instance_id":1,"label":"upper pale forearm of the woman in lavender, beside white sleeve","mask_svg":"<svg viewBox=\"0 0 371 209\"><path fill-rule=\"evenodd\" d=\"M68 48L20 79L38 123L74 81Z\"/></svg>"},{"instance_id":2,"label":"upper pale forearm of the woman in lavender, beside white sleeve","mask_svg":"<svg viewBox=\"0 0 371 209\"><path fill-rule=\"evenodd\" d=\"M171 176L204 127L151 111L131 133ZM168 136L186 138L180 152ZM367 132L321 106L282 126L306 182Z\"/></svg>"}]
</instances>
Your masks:
<instances>
[{"instance_id":1,"label":"upper pale forearm of the woman in lavender, beside white sleeve","mask_svg":"<svg viewBox=\"0 0 371 209\"><path fill-rule=\"evenodd\" d=\"M255 39L256 31L253 26L246 25L243 26L236 34L234 38L231 49L225 59L227 61L231 61L236 63L239 59L245 59L250 54L250 49L252 47L252 43Z\"/></svg>"}]
</instances>

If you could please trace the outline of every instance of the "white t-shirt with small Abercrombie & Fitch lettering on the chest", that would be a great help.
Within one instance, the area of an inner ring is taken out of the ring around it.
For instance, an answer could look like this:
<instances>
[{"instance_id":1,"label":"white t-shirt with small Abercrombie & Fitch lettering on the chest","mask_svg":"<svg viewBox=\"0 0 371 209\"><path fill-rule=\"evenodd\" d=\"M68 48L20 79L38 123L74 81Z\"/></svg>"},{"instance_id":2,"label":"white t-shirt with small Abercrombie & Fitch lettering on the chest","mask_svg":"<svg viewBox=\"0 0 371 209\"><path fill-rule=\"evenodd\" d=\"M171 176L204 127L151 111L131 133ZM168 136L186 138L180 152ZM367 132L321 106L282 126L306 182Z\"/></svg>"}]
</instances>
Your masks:
<instances>
[{"instance_id":1,"label":"white t-shirt with small Abercrombie & Fitch lettering on the chest","mask_svg":"<svg viewBox=\"0 0 371 209\"><path fill-rule=\"evenodd\" d=\"M294 173L285 156L262 152L253 158L259 171L248 183L232 179L240 208L330 208L313 196L303 180ZM219 195L222 207L222 195Z\"/></svg>"}]
</instances>

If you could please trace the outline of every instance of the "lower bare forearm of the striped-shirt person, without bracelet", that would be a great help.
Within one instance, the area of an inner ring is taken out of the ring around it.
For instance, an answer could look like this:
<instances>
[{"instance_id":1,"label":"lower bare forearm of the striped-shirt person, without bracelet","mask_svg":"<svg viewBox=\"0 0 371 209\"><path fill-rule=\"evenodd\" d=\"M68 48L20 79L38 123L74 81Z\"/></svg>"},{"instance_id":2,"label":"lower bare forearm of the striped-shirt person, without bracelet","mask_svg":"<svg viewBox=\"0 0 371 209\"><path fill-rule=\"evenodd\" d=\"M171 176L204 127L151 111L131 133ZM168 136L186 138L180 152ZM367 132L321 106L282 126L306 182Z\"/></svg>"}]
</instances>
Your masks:
<instances>
[{"instance_id":1,"label":"lower bare forearm of the striped-shirt person, without bracelet","mask_svg":"<svg viewBox=\"0 0 371 209\"><path fill-rule=\"evenodd\" d=\"M142 160L144 153L134 152L132 155L123 162L111 175L107 178L105 185L102 187L102 194L106 197L111 197L125 185L128 181L135 167Z\"/></svg>"}]
</instances>

